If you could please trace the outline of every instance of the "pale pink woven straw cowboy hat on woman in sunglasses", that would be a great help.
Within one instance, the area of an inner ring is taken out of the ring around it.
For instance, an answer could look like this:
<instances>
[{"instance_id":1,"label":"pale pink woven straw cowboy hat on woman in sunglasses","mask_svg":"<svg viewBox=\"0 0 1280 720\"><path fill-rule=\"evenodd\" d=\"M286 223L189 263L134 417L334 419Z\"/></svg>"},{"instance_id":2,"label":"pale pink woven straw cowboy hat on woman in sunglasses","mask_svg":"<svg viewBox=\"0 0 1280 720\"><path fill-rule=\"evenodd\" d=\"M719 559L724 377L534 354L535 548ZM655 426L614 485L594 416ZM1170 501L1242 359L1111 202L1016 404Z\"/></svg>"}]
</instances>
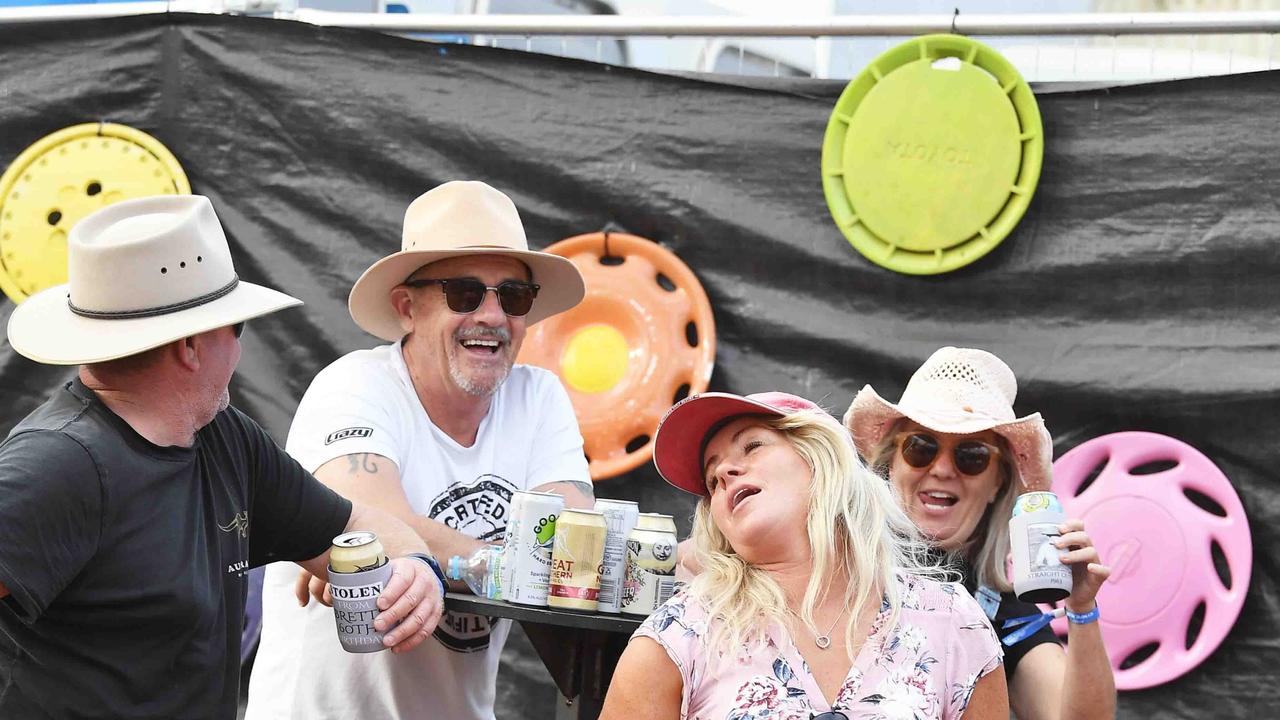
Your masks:
<instances>
[{"instance_id":1,"label":"pale pink woven straw cowboy hat on woman in sunglasses","mask_svg":"<svg viewBox=\"0 0 1280 720\"><path fill-rule=\"evenodd\" d=\"M1014 414L1016 396L1018 379L1000 357L984 350L943 347L911 375L896 405L872 386L858 391L845 413L845 427L868 461L902 418L946 434L995 430L1009 442L1027 488L1048 489L1053 439L1039 413L1025 418Z\"/></svg>"}]
</instances>

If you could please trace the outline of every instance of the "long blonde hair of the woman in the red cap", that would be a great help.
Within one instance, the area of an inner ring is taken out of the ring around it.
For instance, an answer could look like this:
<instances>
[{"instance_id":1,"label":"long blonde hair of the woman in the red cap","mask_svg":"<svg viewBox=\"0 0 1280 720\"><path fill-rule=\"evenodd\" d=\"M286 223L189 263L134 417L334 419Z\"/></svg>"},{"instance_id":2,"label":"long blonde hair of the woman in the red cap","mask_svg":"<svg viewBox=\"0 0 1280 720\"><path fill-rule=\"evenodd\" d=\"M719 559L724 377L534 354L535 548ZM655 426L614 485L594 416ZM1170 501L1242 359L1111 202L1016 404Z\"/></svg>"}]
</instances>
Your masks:
<instances>
[{"instance_id":1,"label":"long blonde hair of the woman in the red cap","mask_svg":"<svg viewBox=\"0 0 1280 720\"><path fill-rule=\"evenodd\" d=\"M813 469L806 532L812 552L809 583L795 615L818 635L814 609L831 592L831 578L849 578L851 619L861 618L872 603L888 603L888 626L897 623L899 571L941 575L927 565L928 546L901 510L884 482L863 465L847 430L822 411L762 418L762 423L787 438ZM792 626L782 588L768 573L745 561L730 546L704 497L694 514L694 552L701 571L690 592L699 598L712 623L708 642L712 657L733 656L745 644L763 641L769 623ZM852 656L856 621L845 626L845 647Z\"/></svg>"}]
</instances>

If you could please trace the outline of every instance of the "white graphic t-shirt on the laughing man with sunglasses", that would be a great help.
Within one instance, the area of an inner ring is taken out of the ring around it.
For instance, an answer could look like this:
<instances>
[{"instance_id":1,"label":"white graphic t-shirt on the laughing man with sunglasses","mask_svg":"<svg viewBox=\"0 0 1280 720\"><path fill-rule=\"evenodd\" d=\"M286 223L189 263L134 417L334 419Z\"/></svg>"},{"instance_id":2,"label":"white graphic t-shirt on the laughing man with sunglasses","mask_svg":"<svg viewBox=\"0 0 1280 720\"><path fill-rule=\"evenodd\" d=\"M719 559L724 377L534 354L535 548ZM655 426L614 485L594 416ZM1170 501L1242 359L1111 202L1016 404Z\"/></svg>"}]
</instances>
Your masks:
<instances>
[{"instance_id":1,"label":"white graphic t-shirt on the laughing man with sunglasses","mask_svg":"<svg viewBox=\"0 0 1280 720\"><path fill-rule=\"evenodd\" d=\"M310 471L346 455L388 457L415 512L486 541L502 538L512 492L590 482L573 407L554 374L513 366L475 445L462 447L428 418L399 343L351 352L316 375L285 450ZM509 620L445 612L435 637L407 655L353 655L338 644L332 609L298 607L297 577L293 564L266 570L246 720L493 719Z\"/></svg>"}]
</instances>

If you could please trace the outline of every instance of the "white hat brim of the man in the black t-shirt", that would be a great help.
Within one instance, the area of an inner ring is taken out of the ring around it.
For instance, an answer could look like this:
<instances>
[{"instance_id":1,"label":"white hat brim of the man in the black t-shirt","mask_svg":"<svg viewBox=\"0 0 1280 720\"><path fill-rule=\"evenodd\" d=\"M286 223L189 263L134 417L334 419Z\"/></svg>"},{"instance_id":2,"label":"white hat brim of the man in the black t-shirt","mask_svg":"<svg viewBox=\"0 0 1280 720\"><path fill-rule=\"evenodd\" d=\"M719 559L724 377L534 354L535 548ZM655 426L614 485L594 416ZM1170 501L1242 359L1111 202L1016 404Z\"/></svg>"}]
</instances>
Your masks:
<instances>
[{"instance_id":1,"label":"white hat brim of the man in the black t-shirt","mask_svg":"<svg viewBox=\"0 0 1280 720\"><path fill-rule=\"evenodd\" d=\"M27 299L9 315L9 345L46 365L87 365L137 355L206 331L302 305L297 297L241 281L223 297L165 315L104 320L72 313L68 284Z\"/></svg>"}]
</instances>

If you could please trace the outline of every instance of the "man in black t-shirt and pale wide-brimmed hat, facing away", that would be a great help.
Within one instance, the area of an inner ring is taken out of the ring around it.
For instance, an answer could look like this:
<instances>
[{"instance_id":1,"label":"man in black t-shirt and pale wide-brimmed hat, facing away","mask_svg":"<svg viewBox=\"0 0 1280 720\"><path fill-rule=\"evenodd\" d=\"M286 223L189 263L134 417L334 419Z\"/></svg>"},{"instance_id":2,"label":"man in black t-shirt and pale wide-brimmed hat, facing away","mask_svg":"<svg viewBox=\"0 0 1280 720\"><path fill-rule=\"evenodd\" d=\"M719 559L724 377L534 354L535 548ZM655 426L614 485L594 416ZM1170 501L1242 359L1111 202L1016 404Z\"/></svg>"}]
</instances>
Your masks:
<instances>
[{"instance_id":1,"label":"man in black t-shirt and pale wide-brimmed hat, facing away","mask_svg":"<svg viewBox=\"0 0 1280 720\"><path fill-rule=\"evenodd\" d=\"M301 302L237 278L206 197L93 213L68 270L9 319L14 350L81 368L0 446L0 717L229 720L250 568L324 575L355 528L389 555L426 544L229 406L244 322ZM397 652L439 619L421 560L392 560L379 600Z\"/></svg>"}]
</instances>

